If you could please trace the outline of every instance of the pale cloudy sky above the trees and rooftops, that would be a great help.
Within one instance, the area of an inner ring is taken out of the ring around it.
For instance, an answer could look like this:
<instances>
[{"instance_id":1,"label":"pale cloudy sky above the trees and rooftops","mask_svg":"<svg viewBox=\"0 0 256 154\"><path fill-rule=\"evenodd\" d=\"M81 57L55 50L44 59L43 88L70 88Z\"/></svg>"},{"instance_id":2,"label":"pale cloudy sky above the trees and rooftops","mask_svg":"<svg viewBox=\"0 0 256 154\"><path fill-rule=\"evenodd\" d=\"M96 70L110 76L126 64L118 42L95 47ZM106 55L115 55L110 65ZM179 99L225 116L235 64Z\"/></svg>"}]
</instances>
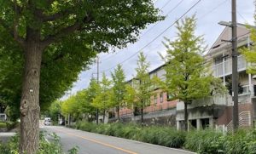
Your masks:
<instances>
[{"instance_id":1,"label":"pale cloudy sky above the trees and rooftops","mask_svg":"<svg viewBox=\"0 0 256 154\"><path fill-rule=\"evenodd\" d=\"M165 54L166 48L163 45L164 37L175 39L176 29L173 23L185 14L190 7L200 0L154 0L154 6L159 8L160 14L166 16L166 20L161 20L141 31L137 43L128 44L127 48L110 51L108 54L99 54L100 79L104 71L107 77L111 77L115 66L121 64L126 80L136 76L137 53L143 51L150 63L149 71L154 70L163 64L159 53ZM255 5L253 0L236 0L237 22L254 25L253 13ZM218 25L221 20L231 20L231 0L201 0L195 7L185 15L196 15L197 27L195 34L203 35L205 43L210 48L217 40L224 26ZM96 63L89 69L79 74L79 80L73 83L73 88L67 94L75 94L83 88L87 88L91 77L96 77ZM63 98L67 98L64 96Z\"/></svg>"}]
</instances>

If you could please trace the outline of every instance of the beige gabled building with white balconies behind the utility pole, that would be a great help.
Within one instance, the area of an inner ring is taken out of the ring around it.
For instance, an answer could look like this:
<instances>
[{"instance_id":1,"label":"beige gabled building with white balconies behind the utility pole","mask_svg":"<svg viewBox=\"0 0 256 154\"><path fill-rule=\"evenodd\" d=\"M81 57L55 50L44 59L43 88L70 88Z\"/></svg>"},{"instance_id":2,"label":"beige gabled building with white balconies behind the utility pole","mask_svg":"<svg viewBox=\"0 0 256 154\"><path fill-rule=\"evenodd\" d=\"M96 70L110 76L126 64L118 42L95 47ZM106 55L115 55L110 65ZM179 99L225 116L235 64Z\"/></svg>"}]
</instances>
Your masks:
<instances>
[{"instance_id":1,"label":"beige gabled building with white balconies behind the utility pole","mask_svg":"<svg viewBox=\"0 0 256 154\"><path fill-rule=\"evenodd\" d=\"M231 39L231 28L225 27L217 41L205 55L208 63L211 63L211 70L214 77L223 80L225 86L231 84L232 60L231 43L222 40ZM250 48L250 31L242 24L237 25L238 50ZM256 118L256 80L255 76L247 74L247 66L244 55L238 55L238 81L239 81L239 126L252 127ZM205 128L207 126L222 128L226 131L232 129L232 97L226 95L212 95L201 100L195 100L188 106L190 128ZM177 128L182 127L184 105L177 103Z\"/></svg>"}]
</instances>

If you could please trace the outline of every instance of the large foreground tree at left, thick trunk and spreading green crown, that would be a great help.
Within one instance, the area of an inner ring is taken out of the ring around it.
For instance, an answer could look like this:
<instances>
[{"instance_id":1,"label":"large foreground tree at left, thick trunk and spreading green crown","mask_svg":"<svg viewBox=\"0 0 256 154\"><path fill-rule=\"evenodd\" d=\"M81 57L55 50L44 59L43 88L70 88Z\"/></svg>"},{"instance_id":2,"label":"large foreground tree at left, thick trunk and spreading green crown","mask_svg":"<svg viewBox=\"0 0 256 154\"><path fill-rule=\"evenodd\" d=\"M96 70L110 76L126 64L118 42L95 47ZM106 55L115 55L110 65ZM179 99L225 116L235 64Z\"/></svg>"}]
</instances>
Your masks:
<instances>
[{"instance_id":1,"label":"large foreground tree at left, thick trunk and spreading green crown","mask_svg":"<svg viewBox=\"0 0 256 154\"><path fill-rule=\"evenodd\" d=\"M44 54L55 48L77 47L106 52L136 41L140 29L160 20L152 0L61 1L1 0L0 44L24 55L20 100L20 153L34 154L39 140L39 83ZM6 41L7 40L7 41ZM84 52L79 50L79 52Z\"/></svg>"}]
</instances>

